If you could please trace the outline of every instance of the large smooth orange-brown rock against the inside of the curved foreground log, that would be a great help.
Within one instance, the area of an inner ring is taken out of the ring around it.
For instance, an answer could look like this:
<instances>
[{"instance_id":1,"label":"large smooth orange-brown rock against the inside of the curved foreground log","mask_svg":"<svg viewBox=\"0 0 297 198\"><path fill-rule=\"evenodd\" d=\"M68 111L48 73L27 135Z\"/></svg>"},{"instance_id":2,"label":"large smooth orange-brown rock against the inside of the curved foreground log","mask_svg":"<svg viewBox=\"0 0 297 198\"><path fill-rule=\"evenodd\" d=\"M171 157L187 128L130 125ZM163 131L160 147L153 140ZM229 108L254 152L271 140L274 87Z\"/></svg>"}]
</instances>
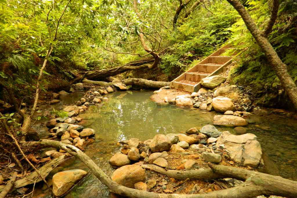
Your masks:
<instances>
[{"instance_id":1,"label":"large smooth orange-brown rock against the inside of the curved foreground log","mask_svg":"<svg viewBox=\"0 0 297 198\"><path fill-rule=\"evenodd\" d=\"M138 165L123 166L111 175L111 179L116 183L133 188L135 183L144 182L146 179L145 170Z\"/></svg>"}]
</instances>

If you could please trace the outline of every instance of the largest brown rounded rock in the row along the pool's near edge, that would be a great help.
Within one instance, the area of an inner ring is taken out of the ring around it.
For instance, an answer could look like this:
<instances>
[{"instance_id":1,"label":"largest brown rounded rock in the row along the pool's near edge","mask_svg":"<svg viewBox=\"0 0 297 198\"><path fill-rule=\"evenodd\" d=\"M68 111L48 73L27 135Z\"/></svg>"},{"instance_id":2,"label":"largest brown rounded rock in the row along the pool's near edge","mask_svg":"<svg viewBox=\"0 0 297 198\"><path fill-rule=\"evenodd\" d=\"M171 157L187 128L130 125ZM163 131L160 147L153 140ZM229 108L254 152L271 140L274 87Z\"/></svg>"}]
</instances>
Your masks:
<instances>
[{"instance_id":1,"label":"largest brown rounded rock in the row along the pool's near edge","mask_svg":"<svg viewBox=\"0 0 297 198\"><path fill-rule=\"evenodd\" d=\"M157 134L151 141L149 147L152 152L168 151L171 146L171 141L163 134Z\"/></svg>"}]
</instances>

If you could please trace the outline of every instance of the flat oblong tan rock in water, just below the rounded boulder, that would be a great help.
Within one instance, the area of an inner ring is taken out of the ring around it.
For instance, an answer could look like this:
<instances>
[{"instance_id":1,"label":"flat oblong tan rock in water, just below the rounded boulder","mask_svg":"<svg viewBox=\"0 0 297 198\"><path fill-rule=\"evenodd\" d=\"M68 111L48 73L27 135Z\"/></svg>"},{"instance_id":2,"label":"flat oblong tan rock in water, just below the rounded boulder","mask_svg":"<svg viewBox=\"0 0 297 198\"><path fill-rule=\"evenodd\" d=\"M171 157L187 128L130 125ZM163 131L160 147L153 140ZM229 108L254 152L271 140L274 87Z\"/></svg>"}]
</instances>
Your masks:
<instances>
[{"instance_id":1,"label":"flat oblong tan rock in water, just below the rounded boulder","mask_svg":"<svg viewBox=\"0 0 297 198\"><path fill-rule=\"evenodd\" d=\"M247 121L235 115L215 115L214 124L222 126L245 126Z\"/></svg>"}]
</instances>

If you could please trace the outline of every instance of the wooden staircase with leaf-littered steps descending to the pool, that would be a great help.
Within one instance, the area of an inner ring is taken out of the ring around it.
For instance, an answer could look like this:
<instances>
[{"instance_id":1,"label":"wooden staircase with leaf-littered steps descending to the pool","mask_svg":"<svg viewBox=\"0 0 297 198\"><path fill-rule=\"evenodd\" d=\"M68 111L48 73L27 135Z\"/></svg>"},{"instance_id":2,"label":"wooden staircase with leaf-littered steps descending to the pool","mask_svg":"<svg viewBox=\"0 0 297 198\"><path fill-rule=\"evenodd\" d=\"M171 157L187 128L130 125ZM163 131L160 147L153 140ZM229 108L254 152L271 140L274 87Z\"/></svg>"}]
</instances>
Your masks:
<instances>
[{"instance_id":1,"label":"wooden staircase with leaf-littered steps descending to the pool","mask_svg":"<svg viewBox=\"0 0 297 198\"><path fill-rule=\"evenodd\" d=\"M202 78L219 75L227 71L226 66L232 62L232 57L237 54L234 52L232 56L221 56L226 50L235 49L228 44L219 48L216 52L204 58L197 65L187 70L176 79L170 82L175 89L197 92L200 88L200 81Z\"/></svg>"}]
</instances>

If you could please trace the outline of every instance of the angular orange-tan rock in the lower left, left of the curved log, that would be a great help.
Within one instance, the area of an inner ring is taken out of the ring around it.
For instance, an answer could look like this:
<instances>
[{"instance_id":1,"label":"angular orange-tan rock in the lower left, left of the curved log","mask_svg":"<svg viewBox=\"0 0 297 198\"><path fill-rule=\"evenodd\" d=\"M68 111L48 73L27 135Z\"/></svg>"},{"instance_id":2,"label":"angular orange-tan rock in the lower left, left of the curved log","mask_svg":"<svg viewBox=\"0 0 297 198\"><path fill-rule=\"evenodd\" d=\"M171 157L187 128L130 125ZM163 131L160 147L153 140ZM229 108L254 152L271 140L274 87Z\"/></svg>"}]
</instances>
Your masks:
<instances>
[{"instance_id":1,"label":"angular orange-tan rock in the lower left, left of the curved log","mask_svg":"<svg viewBox=\"0 0 297 198\"><path fill-rule=\"evenodd\" d=\"M53 176L53 194L60 197L65 194L79 180L86 176L87 172L80 169L58 172Z\"/></svg>"}]
</instances>

